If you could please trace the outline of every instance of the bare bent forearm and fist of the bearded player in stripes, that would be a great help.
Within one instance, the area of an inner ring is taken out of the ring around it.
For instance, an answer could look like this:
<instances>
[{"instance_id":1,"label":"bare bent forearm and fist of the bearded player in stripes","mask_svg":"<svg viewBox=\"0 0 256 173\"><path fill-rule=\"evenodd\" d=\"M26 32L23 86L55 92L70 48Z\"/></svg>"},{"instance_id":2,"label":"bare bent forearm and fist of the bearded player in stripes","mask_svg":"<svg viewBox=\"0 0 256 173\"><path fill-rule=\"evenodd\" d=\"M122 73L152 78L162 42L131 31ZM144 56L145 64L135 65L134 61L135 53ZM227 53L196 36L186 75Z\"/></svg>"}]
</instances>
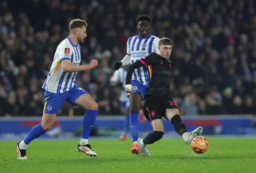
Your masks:
<instances>
[{"instance_id":1,"label":"bare bent forearm and fist of the bearded player in stripes","mask_svg":"<svg viewBox=\"0 0 256 173\"><path fill-rule=\"evenodd\" d=\"M96 67L97 65L98 65L98 61L96 59L93 59L88 65L74 65L74 64L71 64L71 61L69 59L65 59L61 61L61 67L64 72L78 72L78 71L89 70Z\"/></svg>"}]
</instances>

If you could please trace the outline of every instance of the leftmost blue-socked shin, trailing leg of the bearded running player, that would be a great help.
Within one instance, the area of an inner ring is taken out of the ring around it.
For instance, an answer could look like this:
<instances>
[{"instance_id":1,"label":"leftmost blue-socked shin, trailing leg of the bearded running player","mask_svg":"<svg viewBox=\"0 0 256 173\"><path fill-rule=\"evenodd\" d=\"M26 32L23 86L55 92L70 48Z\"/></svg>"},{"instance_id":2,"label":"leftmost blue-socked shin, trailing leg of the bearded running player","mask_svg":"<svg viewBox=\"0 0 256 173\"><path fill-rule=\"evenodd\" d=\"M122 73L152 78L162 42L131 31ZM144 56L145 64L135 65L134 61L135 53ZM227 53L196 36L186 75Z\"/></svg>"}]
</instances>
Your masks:
<instances>
[{"instance_id":1,"label":"leftmost blue-socked shin, trailing leg of the bearded running player","mask_svg":"<svg viewBox=\"0 0 256 173\"><path fill-rule=\"evenodd\" d=\"M41 124L41 123L38 124L37 126L34 126L34 127L30 130L30 132L28 133L28 135L26 136L26 138L25 138L22 142L20 142L20 149L26 149L26 147L28 146L28 144L29 144L32 140L34 140L34 139L36 139L36 138L42 136L42 134L44 134L45 132L46 132L46 131L42 128L42 124Z\"/></svg>"}]
</instances>

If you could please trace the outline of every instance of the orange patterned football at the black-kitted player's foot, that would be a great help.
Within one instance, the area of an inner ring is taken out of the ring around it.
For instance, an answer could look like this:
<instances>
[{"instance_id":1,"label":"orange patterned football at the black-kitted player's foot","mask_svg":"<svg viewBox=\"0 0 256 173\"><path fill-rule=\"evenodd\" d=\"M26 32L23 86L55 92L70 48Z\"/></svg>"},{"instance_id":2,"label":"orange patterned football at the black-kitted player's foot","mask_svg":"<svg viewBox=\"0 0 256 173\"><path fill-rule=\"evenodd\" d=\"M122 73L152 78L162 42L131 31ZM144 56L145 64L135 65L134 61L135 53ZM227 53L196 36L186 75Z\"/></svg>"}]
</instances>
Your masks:
<instances>
[{"instance_id":1,"label":"orange patterned football at the black-kitted player's foot","mask_svg":"<svg viewBox=\"0 0 256 173\"><path fill-rule=\"evenodd\" d=\"M197 154L205 153L208 149L209 143L203 136L196 136L191 141L191 148Z\"/></svg>"}]
</instances>

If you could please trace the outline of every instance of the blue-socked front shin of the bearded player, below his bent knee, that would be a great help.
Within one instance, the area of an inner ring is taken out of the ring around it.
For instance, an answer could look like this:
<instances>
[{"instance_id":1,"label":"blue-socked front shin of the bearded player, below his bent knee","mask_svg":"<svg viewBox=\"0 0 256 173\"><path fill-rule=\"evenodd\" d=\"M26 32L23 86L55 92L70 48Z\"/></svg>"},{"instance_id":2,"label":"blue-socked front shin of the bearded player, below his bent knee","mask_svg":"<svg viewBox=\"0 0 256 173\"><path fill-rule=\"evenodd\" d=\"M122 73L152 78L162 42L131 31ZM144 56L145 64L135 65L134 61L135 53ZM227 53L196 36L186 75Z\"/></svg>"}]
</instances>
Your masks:
<instances>
[{"instance_id":1,"label":"blue-socked front shin of the bearded player, below his bent knee","mask_svg":"<svg viewBox=\"0 0 256 173\"><path fill-rule=\"evenodd\" d=\"M80 145L88 144L88 138L92 127L96 121L96 117L98 114L98 110L86 110L83 118L83 130L82 130L82 138L80 140Z\"/></svg>"}]
</instances>

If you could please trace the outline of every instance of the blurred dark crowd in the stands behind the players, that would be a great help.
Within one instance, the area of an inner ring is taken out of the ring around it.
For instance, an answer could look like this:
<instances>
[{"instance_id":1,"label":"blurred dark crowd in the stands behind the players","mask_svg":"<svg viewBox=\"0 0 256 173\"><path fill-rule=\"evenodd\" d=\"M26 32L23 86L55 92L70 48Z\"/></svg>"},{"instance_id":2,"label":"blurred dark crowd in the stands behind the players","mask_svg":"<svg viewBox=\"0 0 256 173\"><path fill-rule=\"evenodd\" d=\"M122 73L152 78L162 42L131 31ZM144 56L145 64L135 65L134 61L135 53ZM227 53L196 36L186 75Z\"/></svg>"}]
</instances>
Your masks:
<instances>
[{"instance_id":1,"label":"blurred dark crowd in the stands behind the players","mask_svg":"<svg viewBox=\"0 0 256 173\"><path fill-rule=\"evenodd\" d=\"M170 90L183 115L253 114L256 108L254 0L2 0L0 2L0 116L42 116L42 85L57 45L74 18L88 22L82 62L99 65L77 84L99 114L121 114L109 79L113 64L138 35L136 17L152 18L152 35L174 43ZM58 116L83 115L64 104Z\"/></svg>"}]
</instances>

